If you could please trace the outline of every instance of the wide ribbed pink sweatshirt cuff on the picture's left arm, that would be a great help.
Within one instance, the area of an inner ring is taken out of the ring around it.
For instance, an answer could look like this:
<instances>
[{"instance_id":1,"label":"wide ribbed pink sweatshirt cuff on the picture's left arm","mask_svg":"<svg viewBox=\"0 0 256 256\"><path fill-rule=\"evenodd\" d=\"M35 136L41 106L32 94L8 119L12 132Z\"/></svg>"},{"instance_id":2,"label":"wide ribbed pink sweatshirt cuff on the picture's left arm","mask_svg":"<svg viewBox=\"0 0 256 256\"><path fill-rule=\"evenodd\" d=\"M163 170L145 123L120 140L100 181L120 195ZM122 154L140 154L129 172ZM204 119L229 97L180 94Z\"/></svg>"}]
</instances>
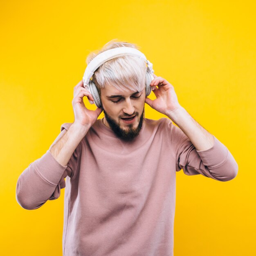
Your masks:
<instances>
[{"instance_id":1,"label":"wide ribbed pink sweatshirt cuff on the picture's left arm","mask_svg":"<svg viewBox=\"0 0 256 256\"><path fill-rule=\"evenodd\" d=\"M40 175L54 185L57 185L58 182L60 182L61 177L67 168L67 165L63 166L57 162L49 149L42 157L35 161L35 165Z\"/></svg>"}]
</instances>

